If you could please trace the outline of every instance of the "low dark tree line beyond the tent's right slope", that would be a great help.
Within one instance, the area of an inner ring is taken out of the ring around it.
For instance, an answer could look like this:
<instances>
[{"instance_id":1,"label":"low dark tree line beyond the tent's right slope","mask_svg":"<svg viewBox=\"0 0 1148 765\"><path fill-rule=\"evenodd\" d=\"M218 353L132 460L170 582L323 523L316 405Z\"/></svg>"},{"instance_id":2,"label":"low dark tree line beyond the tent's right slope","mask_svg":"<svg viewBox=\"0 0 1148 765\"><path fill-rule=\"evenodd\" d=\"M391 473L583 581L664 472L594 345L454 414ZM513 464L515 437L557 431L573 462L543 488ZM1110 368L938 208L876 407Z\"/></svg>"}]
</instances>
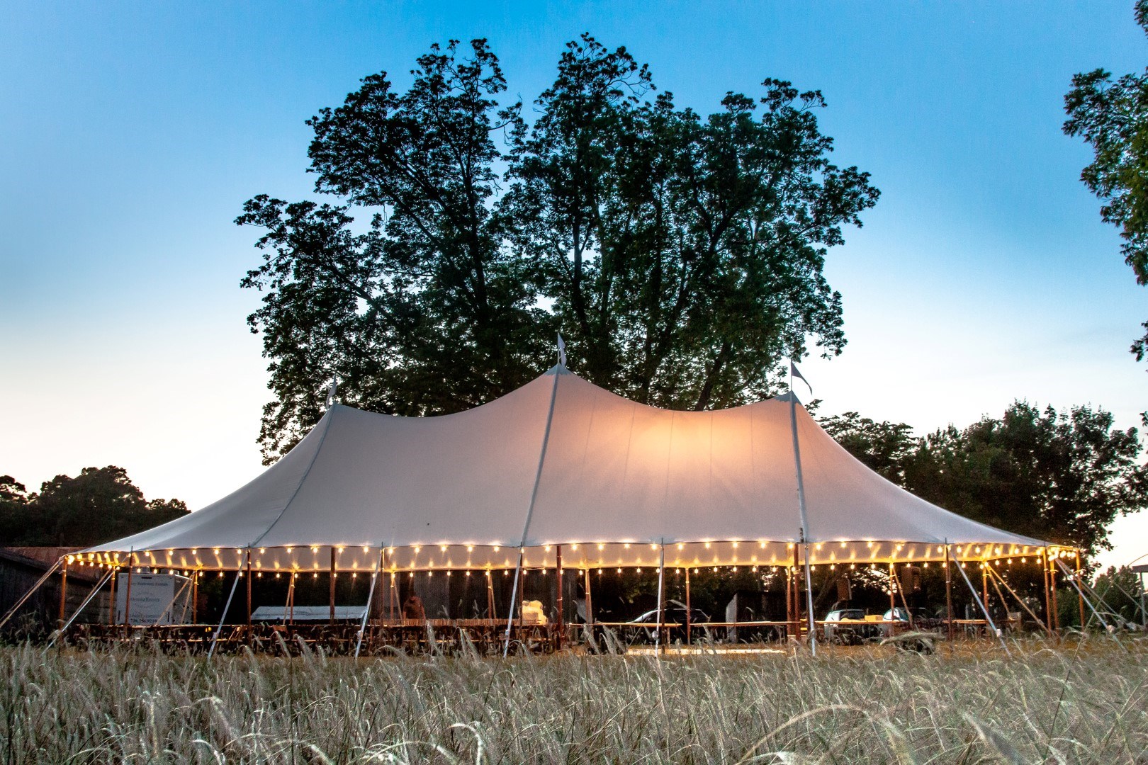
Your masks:
<instances>
[{"instance_id":1,"label":"low dark tree line beyond the tent's right slope","mask_svg":"<svg viewBox=\"0 0 1148 765\"><path fill-rule=\"evenodd\" d=\"M1111 548L1108 525L1118 515L1148 505L1137 429L1114 428L1101 408L1015 401L1000 419L923 438L852 412L822 424L854 456L934 505L1089 554Z\"/></svg>"}]
</instances>

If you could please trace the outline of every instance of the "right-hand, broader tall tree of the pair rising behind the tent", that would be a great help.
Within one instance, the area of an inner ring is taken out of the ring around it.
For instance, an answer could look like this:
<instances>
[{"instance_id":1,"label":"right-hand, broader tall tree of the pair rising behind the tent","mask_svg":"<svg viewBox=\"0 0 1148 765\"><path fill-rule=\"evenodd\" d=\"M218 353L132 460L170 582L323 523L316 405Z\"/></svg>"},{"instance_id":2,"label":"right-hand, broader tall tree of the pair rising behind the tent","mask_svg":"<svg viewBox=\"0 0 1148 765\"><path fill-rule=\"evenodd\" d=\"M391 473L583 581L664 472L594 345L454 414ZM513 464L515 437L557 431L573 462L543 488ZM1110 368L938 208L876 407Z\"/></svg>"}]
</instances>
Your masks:
<instances>
[{"instance_id":1,"label":"right-hand, broader tall tree of the pair rising behind the tent","mask_svg":"<svg viewBox=\"0 0 1148 765\"><path fill-rule=\"evenodd\" d=\"M503 209L594 382L703 409L766 393L807 336L840 352L825 248L877 190L828 161L820 92L763 87L708 117L642 102L649 70L583 36L514 131Z\"/></svg>"}]
</instances>

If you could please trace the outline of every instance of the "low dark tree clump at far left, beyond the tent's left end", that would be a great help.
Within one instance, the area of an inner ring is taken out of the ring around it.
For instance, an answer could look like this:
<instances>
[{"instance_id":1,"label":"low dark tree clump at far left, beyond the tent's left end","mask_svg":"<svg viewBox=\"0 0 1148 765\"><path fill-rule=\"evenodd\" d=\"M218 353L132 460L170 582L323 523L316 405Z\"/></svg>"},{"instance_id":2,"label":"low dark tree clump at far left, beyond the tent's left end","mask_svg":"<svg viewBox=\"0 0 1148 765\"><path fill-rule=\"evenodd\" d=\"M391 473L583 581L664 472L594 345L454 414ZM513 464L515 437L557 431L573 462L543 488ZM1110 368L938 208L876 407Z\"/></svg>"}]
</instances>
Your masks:
<instances>
[{"instance_id":1,"label":"low dark tree clump at far left, beyond the tent's left end","mask_svg":"<svg viewBox=\"0 0 1148 765\"><path fill-rule=\"evenodd\" d=\"M123 468L84 468L29 492L0 476L0 546L86 547L187 514L181 500L146 500Z\"/></svg>"}]
</instances>

